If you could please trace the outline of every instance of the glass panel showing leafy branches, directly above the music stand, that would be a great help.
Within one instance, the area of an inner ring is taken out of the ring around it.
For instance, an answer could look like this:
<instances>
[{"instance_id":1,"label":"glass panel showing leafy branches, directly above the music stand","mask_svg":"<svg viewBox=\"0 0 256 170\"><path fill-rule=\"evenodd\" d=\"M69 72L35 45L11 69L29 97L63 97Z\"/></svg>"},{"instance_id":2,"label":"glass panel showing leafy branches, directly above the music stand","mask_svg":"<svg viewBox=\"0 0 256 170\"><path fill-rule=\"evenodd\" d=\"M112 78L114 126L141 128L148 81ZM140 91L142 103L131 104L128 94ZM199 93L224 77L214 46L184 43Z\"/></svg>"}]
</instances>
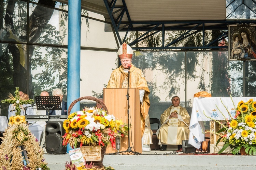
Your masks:
<instances>
[{"instance_id":1,"label":"glass panel showing leafy branches, directly above the music stand","mask_svg":"<svg viewBox=\"0 0 256 170\"><path fill-rule=\"evenodd\" d=\"M60 88L67 94L67 49L30 46L30 97ZM65 100L65 98L63 99Z\"/></svg>"}]
</instances>

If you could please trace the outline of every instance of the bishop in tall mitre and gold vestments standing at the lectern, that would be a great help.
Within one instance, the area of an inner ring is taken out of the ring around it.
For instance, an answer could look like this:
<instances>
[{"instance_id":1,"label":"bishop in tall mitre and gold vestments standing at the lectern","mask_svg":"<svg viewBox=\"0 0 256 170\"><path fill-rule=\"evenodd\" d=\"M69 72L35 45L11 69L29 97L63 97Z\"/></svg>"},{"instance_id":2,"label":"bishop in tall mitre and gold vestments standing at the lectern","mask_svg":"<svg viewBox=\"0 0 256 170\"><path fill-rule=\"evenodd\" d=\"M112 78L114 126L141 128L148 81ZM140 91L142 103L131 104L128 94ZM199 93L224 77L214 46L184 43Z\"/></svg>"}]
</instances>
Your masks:
<instances>
[{"instance_id":1,"label":"bishop in tall mitre and gold vestments standing at the lectern","mask_svg":"<svg viewBox=\"0 0 256 170\"><path fill-rule=\"evenodd\" d=\"M133 50L126 43L119 48L118 56L122 65L111 73L107 88L127 88L128 71L130 72L129 88L138 88L140 90L142 150L150 151L153 134L148 116L148 109L150 107L148 95L150 91L143 72L131 63L132 55Z\"/></svg>"}]
</instances>

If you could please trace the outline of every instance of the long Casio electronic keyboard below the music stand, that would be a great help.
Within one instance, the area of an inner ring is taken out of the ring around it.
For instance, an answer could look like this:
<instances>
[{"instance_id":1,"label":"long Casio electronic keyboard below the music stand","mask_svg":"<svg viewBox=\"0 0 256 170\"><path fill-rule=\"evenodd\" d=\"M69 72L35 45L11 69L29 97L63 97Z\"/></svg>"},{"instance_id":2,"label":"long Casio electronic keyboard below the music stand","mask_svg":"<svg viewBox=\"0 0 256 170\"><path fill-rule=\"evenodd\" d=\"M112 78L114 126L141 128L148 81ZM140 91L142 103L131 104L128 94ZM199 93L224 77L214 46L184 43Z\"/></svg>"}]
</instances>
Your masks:
<instances>
[{"instance_id":1,"label":"long Casio electronic keyboard below the music stand","mask_svg":"<svg viewBox=\"0 0 256 170\"><path fill-rule=\"evenodd\" d=\"M66 120L67 115L50 115L49 121ZM48 121L47 115L26 115L26 121Z\"/></svg>"}]
</instances>

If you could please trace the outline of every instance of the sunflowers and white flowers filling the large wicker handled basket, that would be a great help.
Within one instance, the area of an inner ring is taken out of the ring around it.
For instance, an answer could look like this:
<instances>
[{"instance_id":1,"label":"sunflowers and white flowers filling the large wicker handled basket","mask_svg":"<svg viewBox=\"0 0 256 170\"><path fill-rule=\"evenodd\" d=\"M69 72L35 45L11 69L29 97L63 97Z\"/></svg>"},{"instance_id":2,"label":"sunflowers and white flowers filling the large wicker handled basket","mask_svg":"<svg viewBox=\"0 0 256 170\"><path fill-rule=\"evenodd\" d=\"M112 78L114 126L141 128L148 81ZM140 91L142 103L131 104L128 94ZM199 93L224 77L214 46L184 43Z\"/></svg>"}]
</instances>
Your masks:
<instances>
[{"instance_id":1,"label":"sunflowers and white flowers filling the large wicker handled basket","mask_svg":"<svg viewBox=\"0 0 256 170\"><path fill-rule=\"evenodd\" d=\"M115 149L115 137L128 132L128 126L122 120L116 120L113 115L94 107L85 107L83 111L70 114L63 122L63 128L66 133L62 136L62 145L70 144L72 148L107 147L111 143Z\"/></svg>"}]
</instances>

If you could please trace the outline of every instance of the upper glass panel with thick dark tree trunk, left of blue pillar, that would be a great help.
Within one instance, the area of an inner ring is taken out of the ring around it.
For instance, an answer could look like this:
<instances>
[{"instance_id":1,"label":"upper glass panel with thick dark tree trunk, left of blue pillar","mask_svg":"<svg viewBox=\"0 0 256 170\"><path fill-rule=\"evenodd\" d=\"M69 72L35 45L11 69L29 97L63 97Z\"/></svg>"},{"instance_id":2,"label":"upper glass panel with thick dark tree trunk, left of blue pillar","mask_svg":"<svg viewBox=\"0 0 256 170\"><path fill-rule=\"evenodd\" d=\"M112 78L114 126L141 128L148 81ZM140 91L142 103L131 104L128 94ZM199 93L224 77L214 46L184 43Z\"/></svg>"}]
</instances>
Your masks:
<instances>
[{"instance_id":1,"label":"upper glass panel with thick dark tree trunk, left of blue pillar","mask_svg":"<svg viewBox=\"0 0 256 170\"><path fill-rule=\"evenodd\" d=\"M29 4L29 42L39 44L68 45L64 39L68 34L67 12L48 8L40 4Z\"/></svg>"}]
</instances>

